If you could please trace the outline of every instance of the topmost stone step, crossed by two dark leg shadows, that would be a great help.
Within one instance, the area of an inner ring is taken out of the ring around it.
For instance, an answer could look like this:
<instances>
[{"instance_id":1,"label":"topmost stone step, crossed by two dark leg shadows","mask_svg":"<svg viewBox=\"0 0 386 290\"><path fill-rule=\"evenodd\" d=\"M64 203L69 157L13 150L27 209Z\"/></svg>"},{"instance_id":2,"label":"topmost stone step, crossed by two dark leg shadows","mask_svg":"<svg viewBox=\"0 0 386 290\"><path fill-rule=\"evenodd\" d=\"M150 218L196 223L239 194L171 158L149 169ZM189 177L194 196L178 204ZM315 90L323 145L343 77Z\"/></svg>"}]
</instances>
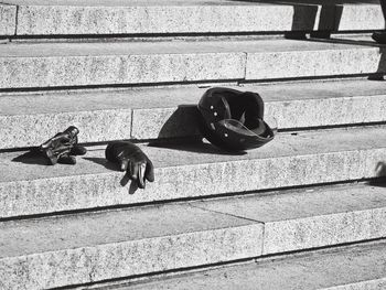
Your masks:
<instances>
[{"instance_id":1,"label":"topmost stone step, crossed by two dark leg shadows","mask_svg":"<svg viewBox=\"0 0 386 290\"><path fill-rule=\"evenodd\" d=\"M246 2L210 0L2 0L18 17L6 35L159 34L379 30L378 2L329 0ZM2 13L0 10L0 15ZM1 19L1 17L0 17ZM15 24L17 23L17 24ZM17 28L14 28L17 25ZM4 32L2 32L4 33ZM13 34L13 33L12 33Z\"/></svg>"}]
</instances>

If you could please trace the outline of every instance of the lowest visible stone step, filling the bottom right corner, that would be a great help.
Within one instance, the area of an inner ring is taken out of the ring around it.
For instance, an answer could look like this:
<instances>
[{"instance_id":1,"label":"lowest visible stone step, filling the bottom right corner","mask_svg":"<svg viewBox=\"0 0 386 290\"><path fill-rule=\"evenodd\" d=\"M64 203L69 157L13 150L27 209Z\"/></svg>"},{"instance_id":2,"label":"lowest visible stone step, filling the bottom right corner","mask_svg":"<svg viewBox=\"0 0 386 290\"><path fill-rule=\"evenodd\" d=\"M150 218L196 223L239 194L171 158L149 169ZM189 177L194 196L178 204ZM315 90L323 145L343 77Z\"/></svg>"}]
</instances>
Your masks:
<instances>
[{"instance_id":1,"label":"lowest visible stone step, filling the bottom right corner","mask_svg":"<svg viewBox=\"0 0 386 290\"><path fill-rule=\"evenodd\" d=\"M304 255L256 260L160 277L148 282L127 282L94 290L382 290L386 289L386 243L368 243Z\"/></svg>"}]
</instances>

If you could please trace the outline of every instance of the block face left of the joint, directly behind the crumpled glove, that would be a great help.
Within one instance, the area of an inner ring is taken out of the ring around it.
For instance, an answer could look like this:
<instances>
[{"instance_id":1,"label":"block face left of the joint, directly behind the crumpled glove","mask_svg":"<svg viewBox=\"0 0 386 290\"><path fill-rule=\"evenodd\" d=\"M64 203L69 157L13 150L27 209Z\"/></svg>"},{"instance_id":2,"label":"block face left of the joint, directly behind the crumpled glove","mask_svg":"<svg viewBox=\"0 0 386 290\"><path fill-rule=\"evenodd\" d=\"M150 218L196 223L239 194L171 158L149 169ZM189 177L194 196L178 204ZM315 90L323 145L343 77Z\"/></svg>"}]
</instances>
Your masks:
<instances>
[{"instance_id":1,"label":"block face left of the joint, directly behind the crumpled glove","mask_svg":"<svg viewBox=\"0 0 386 290\"><path fill-rule=\"evenodd\" d=\"M22 116L1 116L1 148L39 146L69 125L79 130L79 141L95 142L130 137L131 110L95 110Z\"/></svg>"}]
</instances>

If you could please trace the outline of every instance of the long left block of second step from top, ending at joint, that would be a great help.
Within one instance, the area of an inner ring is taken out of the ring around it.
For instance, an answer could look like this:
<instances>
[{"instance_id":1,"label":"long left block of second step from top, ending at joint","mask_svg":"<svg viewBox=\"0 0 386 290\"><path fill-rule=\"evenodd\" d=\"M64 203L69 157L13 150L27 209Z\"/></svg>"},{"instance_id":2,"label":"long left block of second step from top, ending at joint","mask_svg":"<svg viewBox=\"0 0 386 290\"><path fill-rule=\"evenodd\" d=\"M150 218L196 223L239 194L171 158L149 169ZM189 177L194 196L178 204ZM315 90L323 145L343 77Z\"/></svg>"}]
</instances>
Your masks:
<instances>
[{"instance_id":1,"label":"long left block of second step from top, ending at joint","mask_svg":"<svg viewBox=\"0 0 386 290\"><path fill-rule=\"evenodd\" d=\"M3 45L0 87L243 78L244 53L221 52L221 44L196 46L184 42Z\"/></svg>"}]
</instances>

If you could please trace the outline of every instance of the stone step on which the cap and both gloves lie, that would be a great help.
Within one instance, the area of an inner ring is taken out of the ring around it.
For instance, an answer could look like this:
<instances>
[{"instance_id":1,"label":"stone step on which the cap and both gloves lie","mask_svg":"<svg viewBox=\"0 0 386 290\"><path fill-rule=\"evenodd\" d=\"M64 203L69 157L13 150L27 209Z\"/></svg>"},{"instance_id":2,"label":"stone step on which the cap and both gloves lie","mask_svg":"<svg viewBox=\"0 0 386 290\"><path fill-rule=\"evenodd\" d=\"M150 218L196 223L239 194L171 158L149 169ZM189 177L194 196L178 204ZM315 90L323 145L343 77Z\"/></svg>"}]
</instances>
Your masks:
<instances>
[{"instance_id":1,"label":"stone step on which the cap and both gloves lie","mask_svg":"<svg viewBox=\"0 0 386 290\"><path fill-rule=\"evenodd\" d=\"M0 215L52 212L192 198L385 175L386 127L279 133L246 154L207 143L144 146L156 181L137 190L89 148L76 165L45 163L23 152L0 154ZM125 186L126 184L126 186Z\"/></svg>"}]
</instances>

